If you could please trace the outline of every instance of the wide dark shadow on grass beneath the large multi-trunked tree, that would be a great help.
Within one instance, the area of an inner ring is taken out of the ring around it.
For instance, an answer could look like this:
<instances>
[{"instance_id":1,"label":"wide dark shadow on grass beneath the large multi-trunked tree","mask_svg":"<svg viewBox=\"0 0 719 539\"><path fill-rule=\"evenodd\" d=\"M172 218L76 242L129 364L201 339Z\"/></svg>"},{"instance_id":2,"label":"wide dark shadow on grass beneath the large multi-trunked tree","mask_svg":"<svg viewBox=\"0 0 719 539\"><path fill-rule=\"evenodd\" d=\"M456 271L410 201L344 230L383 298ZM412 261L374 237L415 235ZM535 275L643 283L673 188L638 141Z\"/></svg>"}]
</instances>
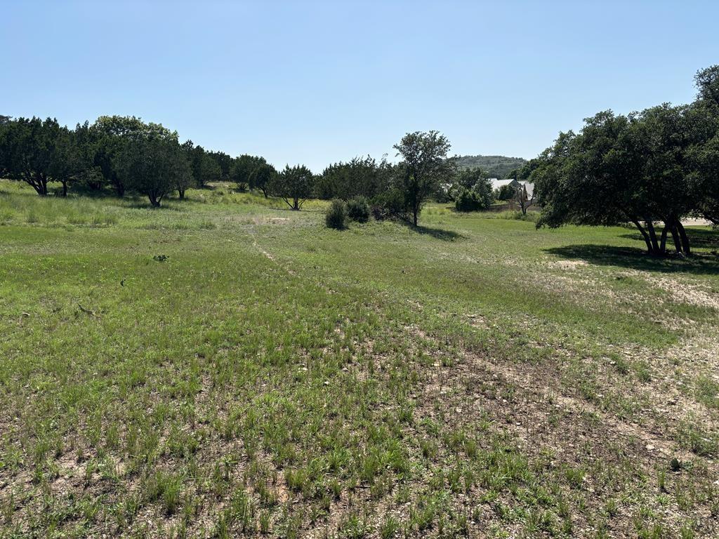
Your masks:
<instances>
[{"instance_id":1,"label":"wide dark shadow on grass beneath the large multi-trunked tree","mask_svg":"<svg viewBox=\"0 0 719 539\"><path fill-rule=\"evenodd\" d=\"M633 237L633 236L632 236ZM644 243L644 240L641 240ZM715 254L694 254L692 257L652 257L644 249L636 247L614 247L611 245L567 245L552 247L544 252L590 264L628 267L646 272L685 272L695 275L719 275L719 257Z\"/></svg>"}]
</instances>

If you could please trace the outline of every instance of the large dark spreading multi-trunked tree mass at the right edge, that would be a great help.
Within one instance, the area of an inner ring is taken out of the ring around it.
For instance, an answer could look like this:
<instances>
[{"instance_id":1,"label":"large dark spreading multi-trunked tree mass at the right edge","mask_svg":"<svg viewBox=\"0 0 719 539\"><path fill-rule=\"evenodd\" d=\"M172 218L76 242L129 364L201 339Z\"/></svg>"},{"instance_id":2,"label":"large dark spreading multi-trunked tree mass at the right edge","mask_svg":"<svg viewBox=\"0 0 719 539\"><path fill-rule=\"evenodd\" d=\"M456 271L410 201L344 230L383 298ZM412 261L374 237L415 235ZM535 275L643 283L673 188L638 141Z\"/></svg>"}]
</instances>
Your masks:
<instances>
[{"instance_id":1,"label":"large dark spreading multi-trunked tree mass at the right edge","mask_svg":"<svg viewBox=\"0 0 719 539\"><path fill-rule=\"evenodd\" d=\"M682 219L719 225L719 65L695 83L688 105L603 111L560 133L523 170L540 201L537 226L633 224L650 254L667 254L669 238L691 254Z\"/></svg>"}]
</instances>

